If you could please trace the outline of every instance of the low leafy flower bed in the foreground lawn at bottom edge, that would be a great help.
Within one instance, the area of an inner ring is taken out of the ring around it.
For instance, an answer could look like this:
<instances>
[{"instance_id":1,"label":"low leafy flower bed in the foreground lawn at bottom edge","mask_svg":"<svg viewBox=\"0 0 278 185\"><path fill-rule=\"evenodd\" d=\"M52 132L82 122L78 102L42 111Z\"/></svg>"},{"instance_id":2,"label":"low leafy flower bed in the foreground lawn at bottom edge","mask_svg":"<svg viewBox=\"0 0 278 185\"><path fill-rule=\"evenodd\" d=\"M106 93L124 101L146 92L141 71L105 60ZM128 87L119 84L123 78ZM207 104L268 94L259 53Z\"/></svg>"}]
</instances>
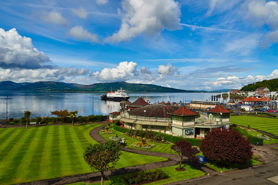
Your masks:
<instances>
[{"instance_id":1,"label":"low leafy flower bed in the foreground lawn at bottom edge","mask_svg":"<svg viewBox=\"0 0 278 185\"><path fill-rule=\"evenodd\" d=\"M162 169L141 170L124 178L127 184L146 184L169 178L169 174Z\"/></svg>"}]
</instances>

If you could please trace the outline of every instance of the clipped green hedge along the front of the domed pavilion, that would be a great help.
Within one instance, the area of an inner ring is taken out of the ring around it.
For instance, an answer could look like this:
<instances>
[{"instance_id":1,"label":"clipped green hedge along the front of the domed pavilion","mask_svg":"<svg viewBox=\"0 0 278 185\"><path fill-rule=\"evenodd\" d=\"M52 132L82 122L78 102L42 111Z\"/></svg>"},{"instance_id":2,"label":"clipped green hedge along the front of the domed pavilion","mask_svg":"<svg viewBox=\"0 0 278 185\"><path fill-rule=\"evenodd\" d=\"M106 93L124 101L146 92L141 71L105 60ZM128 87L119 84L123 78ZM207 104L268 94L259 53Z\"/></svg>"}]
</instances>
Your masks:
<instances>
[{"instance_id":1,"label":"clipped green hedge along the front of the domed pavilion","mask_svg":"<svg viewBox=\"0 0 278 185\"><path fill-rule=\"evenodd\" d=\"M122 132L122 133L126 133L127 132L127 128L123 128L123 127L119 127L116 125L116 123L114 123L114 130L116 131L119 131L119 132ZM192 146L199 146L202 139L195 139L195 138L182 138L182 137L178 137L178 136L172 136L172 135L169 135L169 134L165 134L165 133L160 133L160 132L154 132L154 135L157 135L157 134L162 134L165 138L166 141L169 141L171 143L175 143L176 141L179 141L181 139L184 139L186 140L187 142L191 143Z\"/></svg>"}]
</instances>

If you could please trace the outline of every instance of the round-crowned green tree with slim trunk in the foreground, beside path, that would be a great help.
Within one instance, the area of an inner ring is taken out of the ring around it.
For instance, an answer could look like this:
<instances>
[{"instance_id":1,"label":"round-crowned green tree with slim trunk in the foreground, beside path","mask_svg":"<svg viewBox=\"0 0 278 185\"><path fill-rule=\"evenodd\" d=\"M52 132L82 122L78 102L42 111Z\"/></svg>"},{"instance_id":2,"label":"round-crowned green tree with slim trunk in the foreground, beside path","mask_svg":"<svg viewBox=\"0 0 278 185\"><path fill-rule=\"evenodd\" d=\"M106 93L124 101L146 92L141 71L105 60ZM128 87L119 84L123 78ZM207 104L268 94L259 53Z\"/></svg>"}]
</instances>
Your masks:
<instances>
[{"instance_id":1,"label":"round-crowned green tree with slim trunk in the foreground, beside path","mask_svg":"<svg viewBox=\"0 0 278 185\"><path fill-rule=\"evenodd\" d=\"M103 185L103 173L107 170L114 170L116 162L120 159L122 146L116 141L105 143L89 144L86 147L83 157L92 170L100 171L101 185Z\"/></svg>"}]
</instances>

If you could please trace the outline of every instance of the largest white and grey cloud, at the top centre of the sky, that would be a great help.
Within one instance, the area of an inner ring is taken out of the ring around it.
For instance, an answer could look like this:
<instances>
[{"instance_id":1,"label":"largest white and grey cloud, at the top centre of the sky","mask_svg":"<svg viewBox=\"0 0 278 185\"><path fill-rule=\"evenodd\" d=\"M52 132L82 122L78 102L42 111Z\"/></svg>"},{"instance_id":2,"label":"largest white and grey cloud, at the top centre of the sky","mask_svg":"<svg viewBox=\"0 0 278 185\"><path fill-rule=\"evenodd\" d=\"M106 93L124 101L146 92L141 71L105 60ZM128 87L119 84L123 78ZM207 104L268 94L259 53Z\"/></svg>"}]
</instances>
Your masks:
<instances>
[{"instance_id":1,"label":"largest white and grey cloud, at the top centre of the sky","mask_svg":"<svg viewBox=\"0 0 278 185\"><path fill-rule=\"evenodd\" d=\"M181 10L174 0L122 0L122 10L118 14L122 19L120 29L104 42L127 41L142 33L160 34L164 29L181 29Z\"/></svg>"}]
</instances>

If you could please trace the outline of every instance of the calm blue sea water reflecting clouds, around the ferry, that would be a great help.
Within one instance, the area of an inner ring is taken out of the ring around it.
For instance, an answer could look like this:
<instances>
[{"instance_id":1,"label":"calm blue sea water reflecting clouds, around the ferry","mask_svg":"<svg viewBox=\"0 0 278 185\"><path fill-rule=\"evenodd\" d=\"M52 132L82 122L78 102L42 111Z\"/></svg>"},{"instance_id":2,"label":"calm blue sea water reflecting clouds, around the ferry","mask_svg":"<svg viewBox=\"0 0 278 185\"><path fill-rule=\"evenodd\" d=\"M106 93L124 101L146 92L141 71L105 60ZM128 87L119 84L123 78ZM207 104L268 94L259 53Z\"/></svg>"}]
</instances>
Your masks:
<instances>
[{"instance_id":1,"label":"calm blue sea water reflecting clouds, around the ferry","mask_svg":"<svg viewBox=\"0 0 278 185\"><path fill-rule=\"evenodd\" d=\"M14 92L0 91L0 119L6 119L8 95L8 119L20 118L24 111L32 111L31 118L36 116L51 116L50 111L78 110L78 115L103 114L118 111L120 102L104 101L100 96L104 93L92 92ZM191 102L193 99L211 100L211 95L219 93L133 93L127 92L129 101L135 101L139 96L148 99L151 103L157 101ZM94 97L94 106L93 106Z\"/></svg>"}]
</instances>

